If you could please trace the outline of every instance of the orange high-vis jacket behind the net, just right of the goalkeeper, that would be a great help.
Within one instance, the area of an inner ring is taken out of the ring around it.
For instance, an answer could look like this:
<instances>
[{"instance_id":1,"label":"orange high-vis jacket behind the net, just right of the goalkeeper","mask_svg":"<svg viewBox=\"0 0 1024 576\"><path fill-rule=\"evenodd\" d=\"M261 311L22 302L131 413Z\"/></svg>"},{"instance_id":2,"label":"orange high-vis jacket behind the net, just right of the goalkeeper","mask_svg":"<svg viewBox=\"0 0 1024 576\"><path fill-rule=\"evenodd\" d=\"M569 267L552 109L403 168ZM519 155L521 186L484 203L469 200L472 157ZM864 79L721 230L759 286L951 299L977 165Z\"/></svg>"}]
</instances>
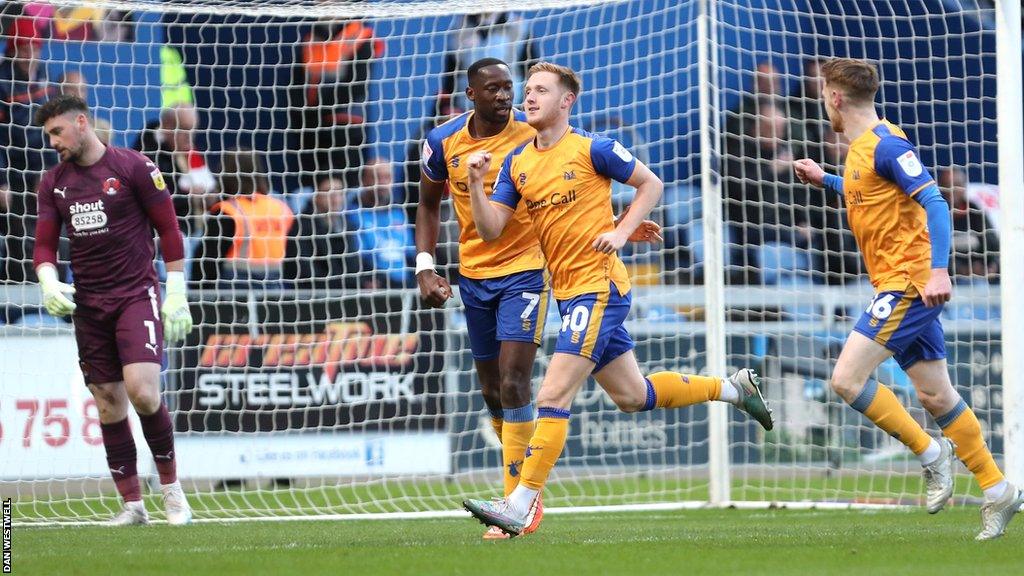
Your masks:
<instances>
[{"instance_id":1,"label":"orange high-vis jacket behind the net, just right of the goalkeeper","mask_svg":"<svg viewBox=\"0 0 1024 576\"><path fill-rule=\"evenodd\" d=\"M218 202L211 211L234 220L234 242L226 257L233 264L279 268L285 260L288 232L295 220L292 209L264 194L239 196Z\"/></svg>"}]
</instances>

